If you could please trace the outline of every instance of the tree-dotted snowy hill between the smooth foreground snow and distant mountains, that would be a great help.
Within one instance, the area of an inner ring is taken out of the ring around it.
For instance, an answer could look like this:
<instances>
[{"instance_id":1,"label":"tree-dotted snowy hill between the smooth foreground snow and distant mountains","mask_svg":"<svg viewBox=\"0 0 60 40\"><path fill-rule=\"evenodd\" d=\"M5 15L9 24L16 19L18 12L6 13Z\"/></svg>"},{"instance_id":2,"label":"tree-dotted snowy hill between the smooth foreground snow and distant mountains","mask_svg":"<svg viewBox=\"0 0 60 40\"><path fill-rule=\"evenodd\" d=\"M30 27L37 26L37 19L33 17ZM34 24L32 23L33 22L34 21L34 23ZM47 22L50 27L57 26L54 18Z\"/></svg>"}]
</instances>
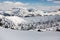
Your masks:
<instances>
[{"instance_id":1,"label":"tree-dotted snowy hill between the smooth foreground snow and distant mountains","mask_svg":"<svg viewBox=\"0 0 60 40\"><path fill-rule=\"evenodd\" d=\"M18 17L0 15L0 26L16 30L56 31L60 30L60 16ZM36 30L37 29L37 30Z\"/></svg>"}]
</instances>

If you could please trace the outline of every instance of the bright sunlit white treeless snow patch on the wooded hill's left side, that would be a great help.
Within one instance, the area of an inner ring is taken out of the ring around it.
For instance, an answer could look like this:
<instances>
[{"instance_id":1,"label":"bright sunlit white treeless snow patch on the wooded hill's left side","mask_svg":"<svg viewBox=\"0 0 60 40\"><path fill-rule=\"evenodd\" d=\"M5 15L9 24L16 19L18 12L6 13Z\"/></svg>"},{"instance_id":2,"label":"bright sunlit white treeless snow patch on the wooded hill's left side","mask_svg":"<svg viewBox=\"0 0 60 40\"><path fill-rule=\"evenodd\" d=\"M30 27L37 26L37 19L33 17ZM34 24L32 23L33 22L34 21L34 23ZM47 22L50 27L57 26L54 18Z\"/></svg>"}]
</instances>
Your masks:
<instances>
[{"instance_id":1,"label":"bright sunlit white treeless snow patch on the wooded hill's left side","mask_svg":"<svg viewBox=\"0 0 60 40\"><path fill-rule=\"evenodd\" d=\"M17 17L17 16L7 16L6 18L9 19L10 21L12 21L15 24L27 22L23 18Z\"/></svg>"}]
</instances>

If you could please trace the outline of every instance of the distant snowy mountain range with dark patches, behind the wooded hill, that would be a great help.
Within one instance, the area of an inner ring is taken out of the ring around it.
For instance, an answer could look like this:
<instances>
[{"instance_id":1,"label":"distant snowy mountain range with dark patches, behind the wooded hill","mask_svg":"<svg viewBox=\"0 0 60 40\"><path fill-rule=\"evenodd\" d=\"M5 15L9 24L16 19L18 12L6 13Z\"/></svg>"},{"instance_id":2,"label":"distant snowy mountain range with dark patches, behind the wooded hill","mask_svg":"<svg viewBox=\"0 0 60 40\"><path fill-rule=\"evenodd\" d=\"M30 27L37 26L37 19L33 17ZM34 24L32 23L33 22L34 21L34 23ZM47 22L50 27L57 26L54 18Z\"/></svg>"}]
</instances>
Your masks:
<instances>
[{"instance_id":1,"label":"distant snowy mountain range with dark patches, behind the wooded hill","mask_svg":"<svg viewBox=\"0 0 60 40\"><path fill-rule=\"evenodd\" d=\"M60 11L43 11L35 8L11 8L11 10L0 10L0 14L4 16L44 16L44 15L60 15Z\"/></svg>"}]
</instances>

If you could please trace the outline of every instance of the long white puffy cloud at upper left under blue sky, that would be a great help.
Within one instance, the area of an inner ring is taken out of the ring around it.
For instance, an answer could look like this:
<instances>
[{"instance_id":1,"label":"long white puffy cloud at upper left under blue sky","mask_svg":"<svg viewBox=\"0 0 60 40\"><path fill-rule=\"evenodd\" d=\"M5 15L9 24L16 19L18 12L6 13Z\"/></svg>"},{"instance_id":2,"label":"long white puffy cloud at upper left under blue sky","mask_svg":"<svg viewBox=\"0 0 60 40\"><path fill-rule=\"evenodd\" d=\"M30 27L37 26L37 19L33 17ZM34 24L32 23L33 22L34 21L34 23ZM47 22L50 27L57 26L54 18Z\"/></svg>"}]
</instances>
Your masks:
<instances>
[{"instance_id":1,"label":"long white puffy cloud at upper left under blue sky","mask_svg":"<svg viewBox=\"0 0 60 40\"><path fill-rule=\"evenodd\" d=\"M0 3L0 9L9 10L14 7L25 7L28 5L29 5L28 3L5 1Z\"/></svg>"}]
</instances>

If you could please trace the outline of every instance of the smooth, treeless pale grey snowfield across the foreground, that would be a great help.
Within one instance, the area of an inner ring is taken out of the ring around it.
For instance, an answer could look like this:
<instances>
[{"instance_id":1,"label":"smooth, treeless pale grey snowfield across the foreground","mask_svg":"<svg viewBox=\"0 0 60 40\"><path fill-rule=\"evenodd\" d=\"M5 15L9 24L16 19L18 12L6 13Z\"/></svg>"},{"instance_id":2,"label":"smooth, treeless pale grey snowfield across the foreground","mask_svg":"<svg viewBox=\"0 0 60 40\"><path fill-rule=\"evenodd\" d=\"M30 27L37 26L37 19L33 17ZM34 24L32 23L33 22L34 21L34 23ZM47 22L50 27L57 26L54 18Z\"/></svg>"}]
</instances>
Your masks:
<instances>
[{"instance_id":1,"label":"smooth, treeless pale grey snowfield across the foreground","mask_svg":"<svg viewBox=\"0 0 60 40\"><path fill-rule=\"evenodd\" d=\"M60 40L60 33L20 31L0 27L0 40Z\"/></svg>"}]
</instances>

